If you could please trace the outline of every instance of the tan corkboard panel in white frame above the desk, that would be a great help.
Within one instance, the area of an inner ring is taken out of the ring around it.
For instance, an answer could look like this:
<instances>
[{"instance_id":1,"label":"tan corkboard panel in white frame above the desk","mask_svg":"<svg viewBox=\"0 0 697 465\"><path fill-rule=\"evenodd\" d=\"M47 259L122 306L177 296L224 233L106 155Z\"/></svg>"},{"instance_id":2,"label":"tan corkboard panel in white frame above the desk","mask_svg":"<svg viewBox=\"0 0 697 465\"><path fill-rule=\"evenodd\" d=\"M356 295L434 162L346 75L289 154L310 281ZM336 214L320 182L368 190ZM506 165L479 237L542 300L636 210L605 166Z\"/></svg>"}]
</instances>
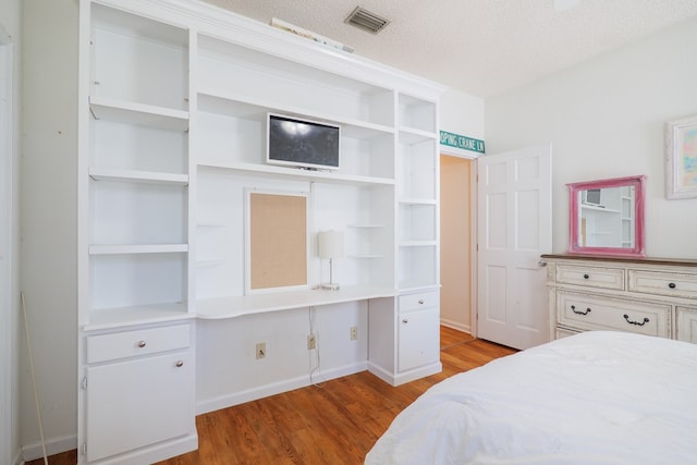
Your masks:
<instances>
[{"instance_id":1,"label":"tan corkboard panel in white frame above the desk","mask_svg":"<svg viewBox=\"0 0 697 465\"><path fill-rule=\"evenodd\" d=\"M249 194L249 289L307 284L307 197Z\"/></svg>"}]
</instances>

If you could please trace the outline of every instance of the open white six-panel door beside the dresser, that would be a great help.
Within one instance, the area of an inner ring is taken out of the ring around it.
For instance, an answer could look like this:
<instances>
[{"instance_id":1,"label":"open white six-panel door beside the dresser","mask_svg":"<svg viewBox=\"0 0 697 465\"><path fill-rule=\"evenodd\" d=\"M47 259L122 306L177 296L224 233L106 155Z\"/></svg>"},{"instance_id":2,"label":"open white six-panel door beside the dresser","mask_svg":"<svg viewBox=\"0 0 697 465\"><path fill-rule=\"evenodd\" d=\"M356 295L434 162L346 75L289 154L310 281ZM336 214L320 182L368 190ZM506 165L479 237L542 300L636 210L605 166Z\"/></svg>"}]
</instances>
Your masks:
<instances>
[{"instance_id":1,"label":"open white six-panel door beside the dresser","mask_svg":"<svg viewBox=\"0 0 697 465\"><path fill-rule=\"evenodd\" d=\"M477 336L515 348L549 341L552 149L477 159Z\"/></svg>"}]
</instances>

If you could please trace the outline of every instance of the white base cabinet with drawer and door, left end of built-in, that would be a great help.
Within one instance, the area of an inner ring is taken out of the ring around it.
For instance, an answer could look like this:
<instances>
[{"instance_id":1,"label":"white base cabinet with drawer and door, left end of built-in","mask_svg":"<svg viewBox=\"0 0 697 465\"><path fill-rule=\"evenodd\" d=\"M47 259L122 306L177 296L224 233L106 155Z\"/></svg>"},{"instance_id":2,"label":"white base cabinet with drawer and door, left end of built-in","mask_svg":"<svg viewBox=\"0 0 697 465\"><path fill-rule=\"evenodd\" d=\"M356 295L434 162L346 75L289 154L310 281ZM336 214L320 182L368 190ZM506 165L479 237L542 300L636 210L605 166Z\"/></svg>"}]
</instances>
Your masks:
<instances>
[{"instance_id":1,"label":"white base cabinet with drawer and door, left end of built-in","mask_svg":"<svg viewBox=\"0 0 697 465\"><path fill-rule=\"evenodd\" d=\"M88 335L83 390L88 463L140 462L195 449L195 365L188 323ZM144 448L169 442L169 452Z\"/></svg>"}]
</instances>

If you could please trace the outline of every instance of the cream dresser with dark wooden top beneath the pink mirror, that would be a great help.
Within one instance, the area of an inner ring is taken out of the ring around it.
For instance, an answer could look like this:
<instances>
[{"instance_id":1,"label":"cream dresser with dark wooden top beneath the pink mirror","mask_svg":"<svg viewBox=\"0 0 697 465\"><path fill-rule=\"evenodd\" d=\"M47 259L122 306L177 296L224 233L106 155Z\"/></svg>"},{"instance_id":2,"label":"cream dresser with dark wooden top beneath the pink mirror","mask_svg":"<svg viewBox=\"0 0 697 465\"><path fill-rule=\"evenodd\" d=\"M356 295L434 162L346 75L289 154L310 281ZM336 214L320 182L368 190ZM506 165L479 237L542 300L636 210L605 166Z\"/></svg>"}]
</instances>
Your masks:
<instances>
[{"instance_id":1,"label":"cream dresser with dark wooden top beneath the pink mirror","mask_svg":"<svg viewBox=\"0 0 697 465\"><path fill-rule=\"evenodd\" d=\"M697 260L542 255L551 339L619 330L697 343Z\"/></svg>"}]
</instances>

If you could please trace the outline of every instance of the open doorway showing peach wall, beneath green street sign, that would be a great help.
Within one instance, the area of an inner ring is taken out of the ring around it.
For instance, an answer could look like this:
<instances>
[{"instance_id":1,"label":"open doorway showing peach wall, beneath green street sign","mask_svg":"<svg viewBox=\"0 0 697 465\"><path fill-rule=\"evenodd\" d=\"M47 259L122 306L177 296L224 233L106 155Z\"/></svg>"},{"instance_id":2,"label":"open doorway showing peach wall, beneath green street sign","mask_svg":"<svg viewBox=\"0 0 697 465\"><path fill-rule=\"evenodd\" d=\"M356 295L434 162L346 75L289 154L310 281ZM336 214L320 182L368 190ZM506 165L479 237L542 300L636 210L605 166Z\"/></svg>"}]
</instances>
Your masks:
<instances>
[{"instance_id":1,"label":"open doorway showing peach wall, beneath green street sign","mask_svg":"<svg viewBox=\"0 0 697 465\"><path fill-rule=\"evenodd\" d=\"M473 160L440 156L440 318L472 333Z\"/></svg>"}]
</instances>

